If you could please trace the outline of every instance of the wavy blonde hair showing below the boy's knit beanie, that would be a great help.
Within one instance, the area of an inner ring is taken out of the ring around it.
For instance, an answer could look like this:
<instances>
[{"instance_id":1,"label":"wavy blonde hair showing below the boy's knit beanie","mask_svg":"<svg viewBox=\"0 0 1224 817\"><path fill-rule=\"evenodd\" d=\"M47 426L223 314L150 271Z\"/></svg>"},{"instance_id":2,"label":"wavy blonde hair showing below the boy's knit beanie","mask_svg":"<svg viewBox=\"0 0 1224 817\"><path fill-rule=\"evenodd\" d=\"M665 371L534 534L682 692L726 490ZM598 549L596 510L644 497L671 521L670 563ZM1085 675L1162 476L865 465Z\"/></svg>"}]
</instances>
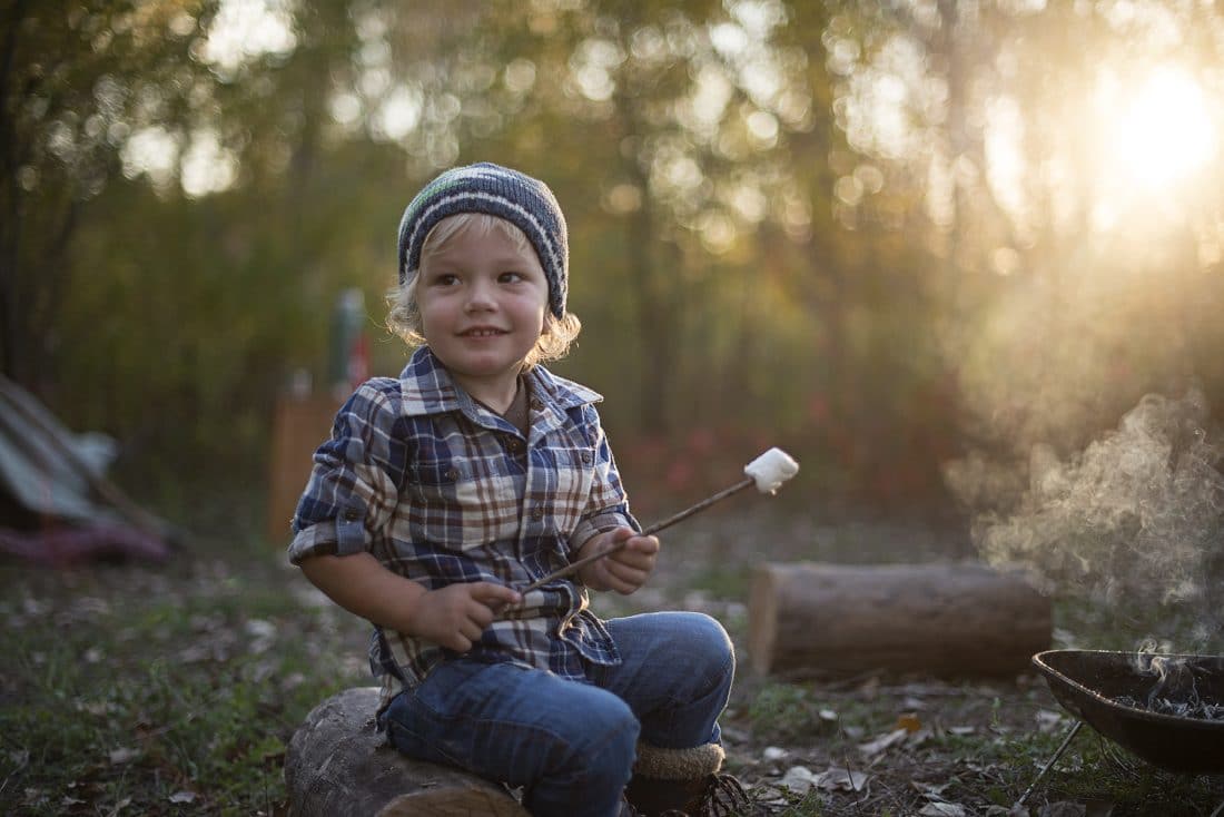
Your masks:
<instances>
[{"instance_id":1,"label":"wavy blonde hair showing below the boy's knit beanie","mask_svg":"<svg viewBox=\"0 0 1224 817\"><path fill-rule=\"evenodd\" d=\"M487 213L458 213L443 218L425 236L425 241L421 244L420 266L425 266L425 260L431 254L441 252L463 235L474 234L482 238L493 232L514 241L514 247L519 252L530 251L532 255L537 255L526 234L504 218ZM410 347L426 345L425 334L421 332L421 309L416 303L419 278L420 268L412 269L403 284L387 293L387 303L390 306L390 311L387 314L387 328L403 338L404 343ZM537 363L564 358L581 329L583 323L577 315L565 312L558 318L551 310L545 309L543 328L535 347L528 353L523 367L530 369Z\"/></svg>"}]
</instances>

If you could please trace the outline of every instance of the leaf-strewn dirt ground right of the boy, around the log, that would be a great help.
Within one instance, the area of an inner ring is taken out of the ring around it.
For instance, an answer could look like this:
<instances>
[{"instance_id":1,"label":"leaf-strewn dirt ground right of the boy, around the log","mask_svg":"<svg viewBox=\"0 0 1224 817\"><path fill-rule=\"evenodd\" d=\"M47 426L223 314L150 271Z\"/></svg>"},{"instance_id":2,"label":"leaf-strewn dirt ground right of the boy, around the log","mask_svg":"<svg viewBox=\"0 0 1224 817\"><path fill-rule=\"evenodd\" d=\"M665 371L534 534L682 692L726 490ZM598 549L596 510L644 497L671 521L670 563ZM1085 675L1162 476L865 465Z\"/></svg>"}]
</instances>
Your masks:
<instances>
[{"instance_id":1,"label":"leaf-strewn dirt ground right of the boy, around the log","mask_svg":"<svg viewBox=\"0 0 1224 817\"><path fill-rule=\"evenodd\" d=\"M646 588L628 599L600 597L596 610L681 608L727 626L741 658L722 719L727 767L753 790L763 813L1224 813L1212 811L1224 807L1224 775L1187 779L1154 769L1091 728L1039 779L1075 721L1034 671L982 680L884 677L864 669L791 683L750 670L745 600L755 565L973 560L967 529L955 523L821 522L755 511L694 519L668 532L663 545ZM1092 646L1058 628L1053 636L1055 647Z\"/></svg>"}]
</instances>

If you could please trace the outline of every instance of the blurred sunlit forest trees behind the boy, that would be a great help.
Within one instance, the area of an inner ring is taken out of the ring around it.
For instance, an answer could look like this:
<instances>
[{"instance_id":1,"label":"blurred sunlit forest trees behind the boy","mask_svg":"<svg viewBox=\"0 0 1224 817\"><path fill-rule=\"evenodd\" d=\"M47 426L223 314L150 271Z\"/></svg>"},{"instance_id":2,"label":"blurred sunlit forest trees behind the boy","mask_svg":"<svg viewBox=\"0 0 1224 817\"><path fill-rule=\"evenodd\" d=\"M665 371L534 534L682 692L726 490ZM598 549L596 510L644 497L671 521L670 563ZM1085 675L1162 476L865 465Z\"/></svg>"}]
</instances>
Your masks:
<instances>
[{"instance_id":1,"label":"blurred sunlit forest trees behind the boy","mask_svg":"<svg viewBox=\"0 0 1224 817\"><path fill-rule=\"evenodd\" d=\"M1146 394L1212 445L1218 2L0 15L2 371L113 435L116 480L171 516L263 497L273 407L295 372L330 387L345 289L372 372L399 371L399 216L474 160L565 209L585 328L554 369L607 394L639 510L778 445L803 507L1006 513L1034 451L1078 462Z\"/></svg>"}]
</instances>

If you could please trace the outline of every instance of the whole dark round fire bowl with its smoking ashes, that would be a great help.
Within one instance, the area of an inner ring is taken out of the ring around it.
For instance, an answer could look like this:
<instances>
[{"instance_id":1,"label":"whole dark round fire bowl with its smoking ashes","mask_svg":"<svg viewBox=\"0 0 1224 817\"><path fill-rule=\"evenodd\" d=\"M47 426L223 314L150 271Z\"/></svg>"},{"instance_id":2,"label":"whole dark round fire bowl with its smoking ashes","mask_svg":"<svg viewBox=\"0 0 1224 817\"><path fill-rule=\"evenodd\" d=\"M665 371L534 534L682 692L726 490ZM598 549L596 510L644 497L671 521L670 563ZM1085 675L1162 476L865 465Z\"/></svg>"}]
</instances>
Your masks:
<instances>
[{"instance_id":1,"label":"whole dark round fire bowl with its smoking ashes","mask_svg":"<svg viewBox=\"0 0 1224 817\"><path fill-rule=\"evenodd\" d=\"M1033 664L1064 708L1144 761L1224 773L1224 657L1051 649Z\"/></svg>"}]
</instances>

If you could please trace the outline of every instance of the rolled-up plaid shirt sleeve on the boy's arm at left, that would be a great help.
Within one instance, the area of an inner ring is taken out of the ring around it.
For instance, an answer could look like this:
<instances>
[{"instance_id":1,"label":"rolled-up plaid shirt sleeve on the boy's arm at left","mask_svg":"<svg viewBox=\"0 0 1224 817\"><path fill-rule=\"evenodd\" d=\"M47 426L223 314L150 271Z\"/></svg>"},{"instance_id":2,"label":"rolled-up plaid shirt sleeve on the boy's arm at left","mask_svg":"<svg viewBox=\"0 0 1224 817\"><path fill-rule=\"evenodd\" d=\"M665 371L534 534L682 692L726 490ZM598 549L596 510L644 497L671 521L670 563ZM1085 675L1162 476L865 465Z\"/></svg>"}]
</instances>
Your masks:
<instances>
[{"instance_id":1,"label":"rolled-up plaid shirt sleeve on the boy's arm at left","mask_svg":"<svg viewBox=\"0 0 1224 817\"><path fill-rule=\"evenodd\" d=\"M340 407L297 502L289 544L293 563L368 550L395 512L406 461L406 441L397 434L398 397L398 381L377 378Z\"/></svg>"}]
</instances>

